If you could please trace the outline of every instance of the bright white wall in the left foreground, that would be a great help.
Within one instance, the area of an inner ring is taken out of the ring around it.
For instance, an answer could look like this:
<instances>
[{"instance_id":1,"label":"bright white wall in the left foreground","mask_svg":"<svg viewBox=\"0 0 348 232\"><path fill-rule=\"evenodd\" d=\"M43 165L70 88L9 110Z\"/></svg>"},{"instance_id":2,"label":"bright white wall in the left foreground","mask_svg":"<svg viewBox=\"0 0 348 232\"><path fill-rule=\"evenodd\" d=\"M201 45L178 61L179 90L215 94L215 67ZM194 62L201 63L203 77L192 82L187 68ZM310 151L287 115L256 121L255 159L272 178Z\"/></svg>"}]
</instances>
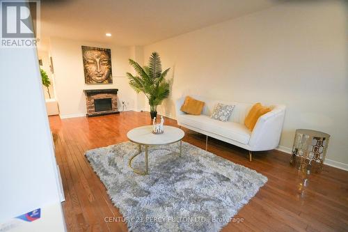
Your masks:
<instances>
[{"instance_id":1,"label":"bright white wall in the left foreground","mask_svg":"<svg viewBox=\"0 0 348 232\"><path fill-rule=\"evenodd\" d=\"M55 217L52 231L64 231L36 50L0 49L0 72L0 223L55 205L38 221Z\"/></svg>"}]
</instances>

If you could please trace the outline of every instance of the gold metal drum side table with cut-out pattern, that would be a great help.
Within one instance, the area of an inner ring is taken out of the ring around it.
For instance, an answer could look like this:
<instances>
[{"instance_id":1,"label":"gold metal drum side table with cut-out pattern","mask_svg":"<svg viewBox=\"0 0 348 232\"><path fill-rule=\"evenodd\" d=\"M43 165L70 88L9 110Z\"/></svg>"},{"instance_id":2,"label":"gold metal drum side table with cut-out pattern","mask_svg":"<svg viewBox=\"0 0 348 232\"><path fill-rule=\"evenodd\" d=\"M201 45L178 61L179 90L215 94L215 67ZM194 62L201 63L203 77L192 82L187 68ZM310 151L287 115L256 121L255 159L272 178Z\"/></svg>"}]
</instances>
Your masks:
<instances>
[{"instance_id":1,"label":"gold metal drum side table with cut-out pattern","mask_svg":"<svg viewBox=\"0 0 348 232\"><path fill-rule=\"evenodd\" d=\"M316 130L296 130L290 164L295 165L299 159L299 169L310 173L322 171L329 144L330 134Z\"/></svg>"}]
</instances>

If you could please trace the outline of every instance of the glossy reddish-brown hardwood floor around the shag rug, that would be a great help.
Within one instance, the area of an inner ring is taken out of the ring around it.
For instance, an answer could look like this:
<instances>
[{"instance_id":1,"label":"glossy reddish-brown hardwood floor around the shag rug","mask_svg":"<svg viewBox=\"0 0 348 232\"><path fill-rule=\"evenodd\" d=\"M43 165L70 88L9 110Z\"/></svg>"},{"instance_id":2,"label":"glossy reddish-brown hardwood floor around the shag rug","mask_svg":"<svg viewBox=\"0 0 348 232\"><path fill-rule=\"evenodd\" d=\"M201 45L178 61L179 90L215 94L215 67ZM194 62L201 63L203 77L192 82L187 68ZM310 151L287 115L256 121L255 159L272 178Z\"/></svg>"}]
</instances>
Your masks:
<instances>
[{"instance_id":1,"label":"glossy reddish-brown hardwood floor around the shag rug","mask_svg":"<svg viewBox=\"0 0 348 232\"><path fill-rule=\"evenodd\" d=\"M84 157L86 150L127 141L127 131L149 125L148 112L127 111L94 118L50 116L56 160L61 169L68 231L127 231L125 222L105 222L122 217L106 188ZM177 125L166 118L166 125ZM205 148L205 136L185 130L184 141ZM303 178L290 166L290 155L277 150L258 152L249 162L247 151L209 139L208 151L254 169L269 178L222 231L348 231L348 172L324 166L320 174Z\"/></svg>"}]
</instances>

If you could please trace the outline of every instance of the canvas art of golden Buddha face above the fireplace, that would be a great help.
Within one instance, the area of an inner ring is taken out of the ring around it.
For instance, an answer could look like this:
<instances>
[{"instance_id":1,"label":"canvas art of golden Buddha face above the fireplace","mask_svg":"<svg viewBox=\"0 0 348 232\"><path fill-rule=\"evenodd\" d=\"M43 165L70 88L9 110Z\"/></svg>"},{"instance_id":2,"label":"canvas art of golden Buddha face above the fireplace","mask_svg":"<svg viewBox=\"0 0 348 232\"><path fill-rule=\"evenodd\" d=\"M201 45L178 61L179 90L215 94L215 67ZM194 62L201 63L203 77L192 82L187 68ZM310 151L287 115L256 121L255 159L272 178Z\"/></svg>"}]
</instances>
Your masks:
<instances>
[{"instance_id":1,"label":"canvas art of golden Buddha face above the fireplace","mask_svg":"<svg viewBox=\"0 0 348 232\"><path fill-rule=\"evenodd\" d=\"M86 84L112 83L111 50L82 46Z\"/></svg>"}]
</instances>

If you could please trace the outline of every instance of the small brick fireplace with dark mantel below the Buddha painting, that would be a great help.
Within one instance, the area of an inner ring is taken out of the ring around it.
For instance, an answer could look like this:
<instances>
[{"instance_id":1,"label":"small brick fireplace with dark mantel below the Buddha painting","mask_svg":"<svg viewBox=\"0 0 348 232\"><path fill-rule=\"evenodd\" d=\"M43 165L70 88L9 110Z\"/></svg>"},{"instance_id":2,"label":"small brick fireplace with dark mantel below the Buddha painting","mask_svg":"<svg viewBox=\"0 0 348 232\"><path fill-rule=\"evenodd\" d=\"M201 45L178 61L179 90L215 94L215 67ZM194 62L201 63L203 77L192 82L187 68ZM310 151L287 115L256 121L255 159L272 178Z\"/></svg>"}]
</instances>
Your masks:
<instances>
[{"instance_id":1,"label":"small brick fireplace with dark mantel below the Buddha painting","mask_svg":"<svg viewBox=\"0 0 348 232\"><path fill-rule=\"evenodd\" d=\"M86 89L87 116L100 116L119 113L117 107L117 88Z\"/></svg>"}]
</instances>

